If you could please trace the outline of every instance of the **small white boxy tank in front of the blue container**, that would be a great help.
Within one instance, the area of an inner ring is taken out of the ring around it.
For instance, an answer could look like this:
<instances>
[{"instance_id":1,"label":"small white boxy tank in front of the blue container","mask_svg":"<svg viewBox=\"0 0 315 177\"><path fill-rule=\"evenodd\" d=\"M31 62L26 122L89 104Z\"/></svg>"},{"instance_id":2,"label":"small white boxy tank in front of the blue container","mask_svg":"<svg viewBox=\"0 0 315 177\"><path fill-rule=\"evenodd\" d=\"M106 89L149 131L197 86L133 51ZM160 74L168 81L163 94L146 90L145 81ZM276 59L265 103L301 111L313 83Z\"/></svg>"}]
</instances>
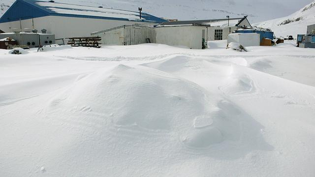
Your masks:
<instances>
[{"instance_id":1,"label":"small white boxy tank in front of the blue container","mask_svg":"<svg viewBox=\"0 0 315 177\"><path fill-rule=\"evenodd\" d=\"M227 36L227 43L235 42L244 47L259 46L260 34L258 33L232 33Z\"/></svg>"}]
</instances>

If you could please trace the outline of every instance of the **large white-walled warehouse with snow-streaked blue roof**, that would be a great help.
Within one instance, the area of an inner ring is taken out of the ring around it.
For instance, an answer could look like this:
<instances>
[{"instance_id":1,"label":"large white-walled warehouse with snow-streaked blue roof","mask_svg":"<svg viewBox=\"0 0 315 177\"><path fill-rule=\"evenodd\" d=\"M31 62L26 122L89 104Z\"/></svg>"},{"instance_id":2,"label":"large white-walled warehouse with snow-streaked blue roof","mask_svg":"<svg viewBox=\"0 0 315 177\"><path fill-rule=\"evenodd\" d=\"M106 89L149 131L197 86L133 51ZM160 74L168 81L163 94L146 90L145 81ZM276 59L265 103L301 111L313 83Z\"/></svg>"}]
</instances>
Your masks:
<instances>
[{"instance_id":1,"label":"large white-walled warehouse with snow-streaked blue roof","mask_svg":"<svg viewBox=\"0 0 315 177\"><path fill-rule=\"evenodd\" d=\"M16 0L0 18L5 32L47 29L56 38L90 36L91 32L122 25L166 22L139 12L58 3L53 0Z\"/></svg>"}]
</instances>

